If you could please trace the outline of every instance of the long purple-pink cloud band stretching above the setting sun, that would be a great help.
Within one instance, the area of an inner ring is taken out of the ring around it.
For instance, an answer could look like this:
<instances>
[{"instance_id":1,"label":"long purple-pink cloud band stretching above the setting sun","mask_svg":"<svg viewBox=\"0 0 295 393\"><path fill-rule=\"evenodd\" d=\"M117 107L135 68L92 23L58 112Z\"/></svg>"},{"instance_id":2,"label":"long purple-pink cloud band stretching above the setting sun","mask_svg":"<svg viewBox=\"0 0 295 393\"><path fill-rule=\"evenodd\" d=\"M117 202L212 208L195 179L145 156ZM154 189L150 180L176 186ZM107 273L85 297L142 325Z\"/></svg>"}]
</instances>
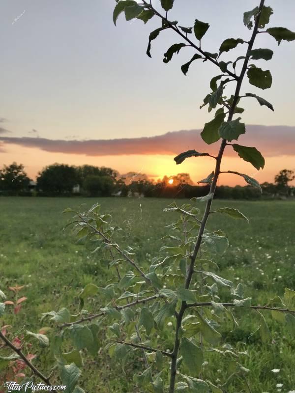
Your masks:
<instances>
[{"instance_id":1,"label":"long purple-pink cloud band stretching above the setting sun","mask_svg":"<svg viewBox=\"0 0 295 393\"><path fill-rule=\"evenodd\" d=\"M246 134L238 143L256 146L264 156L295 155L295 127L249 125ZM7 132L7 130L5 130ZM200 136L201 130L182 130L164 135L113 140L50 140L45 138L1 137L1 141L24 147L39 148L53 153L79 154L86 156L110 156L130 154L167 154L195 149L209 154L217 153L217 143L207 145ZM227 156L236 156L231 148Z\"/></svg>"}]
</instances>

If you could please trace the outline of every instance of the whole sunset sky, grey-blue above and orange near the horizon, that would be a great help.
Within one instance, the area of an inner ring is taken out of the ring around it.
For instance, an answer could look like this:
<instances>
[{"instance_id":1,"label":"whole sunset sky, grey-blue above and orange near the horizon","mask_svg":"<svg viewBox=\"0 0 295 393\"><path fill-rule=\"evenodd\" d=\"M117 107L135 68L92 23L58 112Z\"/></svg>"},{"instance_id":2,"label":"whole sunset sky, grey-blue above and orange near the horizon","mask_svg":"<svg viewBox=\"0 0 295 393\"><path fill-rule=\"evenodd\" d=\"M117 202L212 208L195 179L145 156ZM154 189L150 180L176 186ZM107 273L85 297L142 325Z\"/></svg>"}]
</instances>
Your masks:
<instances>
[{"instance_id":1,"label":"whole sunset sky, grey-blue above and orange near the horizon","mask_svg":"<svg viewBox=\"0 0 295 393\"><path fill-rule=\"evenodd\" d=\"M242 14L257 3L175 0L170 19L181 26L193 26L196 18L208 22L202 47L213 53L226 38L249 40ZM153 4L160 8L158 0ZM199 107L218 69L196 61L184 76L180 66L194 55L191 48L165 64L163 54L181 42L169 30L153 41L149 58L148 34L160 26L159 20L144 25L126 22L121 15L115 27L114 5L115 0L1 3L0 166L22 163L32 178L55 162L145 172L153 178L189 172L194 182L211 172L210 158L191 158L179 166L173 158L181 148L206 148L199 135L213 115ZM294 0L270 0L266 5L274 10L269 27L295 30ZM264 97L275 111L244 99L243 140L259 147L266 167L257 173L227 148L222 169L264 182L273 181L280 169L295 170L295 42L278 46L268 34L259 34L255 47L274 51L272 60L256 62L271 70L273 84L260 90L245 80L242 92ZM239 45L222 59L244 53L245 45ZM233 87L229 84L229 94ZM203 151L216 153L218 142ZM220 184L242 184L242 179L223 175Z\"/></svg>"}]
</instances>

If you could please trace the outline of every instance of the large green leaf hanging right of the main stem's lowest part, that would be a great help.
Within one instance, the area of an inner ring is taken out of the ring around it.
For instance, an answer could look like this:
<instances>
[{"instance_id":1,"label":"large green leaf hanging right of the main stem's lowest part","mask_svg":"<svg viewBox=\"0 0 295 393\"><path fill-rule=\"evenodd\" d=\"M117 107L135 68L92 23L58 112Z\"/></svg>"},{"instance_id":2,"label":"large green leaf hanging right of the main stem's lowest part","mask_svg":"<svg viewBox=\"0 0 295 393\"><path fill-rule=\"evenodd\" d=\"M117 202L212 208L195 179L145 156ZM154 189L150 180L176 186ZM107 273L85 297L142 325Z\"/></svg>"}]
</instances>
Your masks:
<instances>
[{"instance_id":1,"label":"large green leaf hanging right of the main stem's lowest part","mask_svg":"<svg viewBox=\"0 0 295 393\"><path fill-rule=\"evenodd\" d=\"M183 364L189 370L190 375L199 375L204 362L202 349L188 338L182 337L180 351Z\"/></svg>"}]
</instances>

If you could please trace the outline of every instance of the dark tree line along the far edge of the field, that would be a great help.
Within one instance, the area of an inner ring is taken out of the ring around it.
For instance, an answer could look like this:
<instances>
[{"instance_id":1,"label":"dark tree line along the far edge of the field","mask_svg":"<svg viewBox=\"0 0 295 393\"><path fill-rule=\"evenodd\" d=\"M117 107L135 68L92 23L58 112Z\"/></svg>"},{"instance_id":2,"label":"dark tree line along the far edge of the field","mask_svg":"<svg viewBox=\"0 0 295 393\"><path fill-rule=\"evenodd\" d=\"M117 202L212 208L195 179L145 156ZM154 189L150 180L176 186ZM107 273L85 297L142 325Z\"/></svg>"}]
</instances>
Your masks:
<instances>
[{"instance_id":1,"label":"dark tree line along the far edge of the field","mask_svg":"<svg viewBox=\"0 0 295 393\"><path fill-rule=\"evenodd\" d=\"M263 194L257 188L247 186L219 186L216 197L221 199L258 199L294 197L294 171L282 169L274 183L261 184ZM195 186L188 173L164 176L156 182L145 174L129 172L119 175L107 167L83 165L79 167L53 164L43 168L36 182L29 179L22 164L12 163L0 169L0 195L2 196L72 196L87 197L202 197L207 195L209 185Z\"/></svg>"}]
</instances>

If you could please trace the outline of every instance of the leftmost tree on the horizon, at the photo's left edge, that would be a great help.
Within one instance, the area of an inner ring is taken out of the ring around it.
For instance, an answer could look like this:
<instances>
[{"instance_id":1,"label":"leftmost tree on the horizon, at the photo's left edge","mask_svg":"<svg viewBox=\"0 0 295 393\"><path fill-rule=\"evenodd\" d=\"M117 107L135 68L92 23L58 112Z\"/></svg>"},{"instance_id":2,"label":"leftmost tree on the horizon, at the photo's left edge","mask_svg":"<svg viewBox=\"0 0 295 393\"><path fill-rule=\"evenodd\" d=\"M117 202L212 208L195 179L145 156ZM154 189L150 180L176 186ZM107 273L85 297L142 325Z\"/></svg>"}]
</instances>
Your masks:
<instances>
[{"instance_id":1,"label":"leftmost tree on the horizon, at the photo's left edge","mask_svg":"<svg viewBox=\"0 0 295 393\"><path fill-rule=\"evenodd\" d=\"M14 162L8 167L4 165L0 169L0 190L2 191L18 194L28 188L29 181L30 179L22 164L18 165Z\"/></svg>"}]
</instances>

